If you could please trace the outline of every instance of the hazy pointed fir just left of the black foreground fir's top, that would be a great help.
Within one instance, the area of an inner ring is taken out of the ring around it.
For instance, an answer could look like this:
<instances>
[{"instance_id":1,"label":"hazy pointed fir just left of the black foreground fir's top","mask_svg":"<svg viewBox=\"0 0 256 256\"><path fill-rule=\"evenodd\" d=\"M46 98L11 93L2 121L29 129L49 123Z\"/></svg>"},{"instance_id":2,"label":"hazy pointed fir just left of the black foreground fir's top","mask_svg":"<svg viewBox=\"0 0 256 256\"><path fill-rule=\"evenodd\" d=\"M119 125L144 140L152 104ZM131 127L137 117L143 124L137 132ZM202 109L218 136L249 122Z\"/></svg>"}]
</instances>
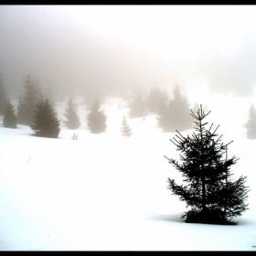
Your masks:
<instances>
[{"instance_id":1,"label":"hazy pointed fir just left of the black foreground fir's top","mask_svg":"<svg viewBox=\"0 0 256 256\"><path fill-rule=\"evenodd\" d=\"M173 99L162 109L158 117L159 127L167 133L174 133L176 130L182 132L192 128L191 118L187 115L189 112L187 97L181 94L177 85L173 94Z\"/></svg>"}]
</instances>

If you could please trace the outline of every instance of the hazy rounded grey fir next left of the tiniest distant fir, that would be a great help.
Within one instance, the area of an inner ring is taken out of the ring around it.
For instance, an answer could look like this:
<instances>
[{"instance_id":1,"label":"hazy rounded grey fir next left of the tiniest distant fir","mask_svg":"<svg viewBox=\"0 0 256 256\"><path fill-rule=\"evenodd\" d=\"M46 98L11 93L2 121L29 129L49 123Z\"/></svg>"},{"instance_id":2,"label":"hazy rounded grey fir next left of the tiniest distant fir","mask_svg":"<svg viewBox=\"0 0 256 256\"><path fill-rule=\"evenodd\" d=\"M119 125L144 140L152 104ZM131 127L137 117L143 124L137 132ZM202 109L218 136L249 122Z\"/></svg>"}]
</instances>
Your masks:
<instances>
[{"instance_id":1,"label":"hazy rounded grey fir next left of the tiniest distant fir","mask_svg":"<svg viewBox=\"0 0 256 256\"><path fill-rule=\"evenodd\" d=\"M103 111L100 111L101 103L95 100L91 106L91 112L87 116L88 127L91 133L104 133L107 128L107 117Z\"/></svg>"}]
</instances>

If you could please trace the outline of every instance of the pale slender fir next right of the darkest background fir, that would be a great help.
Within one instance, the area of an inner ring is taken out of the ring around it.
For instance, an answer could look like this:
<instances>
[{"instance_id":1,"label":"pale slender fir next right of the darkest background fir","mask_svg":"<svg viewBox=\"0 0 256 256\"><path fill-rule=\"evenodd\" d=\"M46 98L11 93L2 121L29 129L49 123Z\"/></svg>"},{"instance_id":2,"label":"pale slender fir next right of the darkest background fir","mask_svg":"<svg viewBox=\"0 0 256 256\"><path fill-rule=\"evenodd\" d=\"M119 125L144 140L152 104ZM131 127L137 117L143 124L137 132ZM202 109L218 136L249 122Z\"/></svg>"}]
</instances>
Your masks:
<instances>
[{"instance_id":1,"label":"pale slender fir next right of the darkest background fir","mask_svg":"<svg viewBox=\"0 0 256 256\"><path fill-rule=\"evenodd\" d=\"M69 97L69 101L67 103L64 115L66 117L66 120L63 123L69 129L76 130L80 127L80 118L77 112L77 107L71 97Z\"/></svg>"}]
</instances>

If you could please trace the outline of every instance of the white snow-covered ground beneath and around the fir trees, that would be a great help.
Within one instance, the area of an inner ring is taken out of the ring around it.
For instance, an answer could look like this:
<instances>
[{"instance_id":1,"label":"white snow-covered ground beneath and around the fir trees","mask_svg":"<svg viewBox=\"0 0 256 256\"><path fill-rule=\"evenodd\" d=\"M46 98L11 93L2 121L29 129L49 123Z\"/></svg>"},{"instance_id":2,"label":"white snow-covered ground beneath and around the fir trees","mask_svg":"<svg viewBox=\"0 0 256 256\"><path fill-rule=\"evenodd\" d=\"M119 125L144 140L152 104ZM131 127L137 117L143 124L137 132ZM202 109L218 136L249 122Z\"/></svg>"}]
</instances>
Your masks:
<instances>
[{"instance_id":1,"label":"white snow-covered ground beneath and around the fir trees","mask_svg":"<svg viewBox=\"0 0 256 256\"><path fill-rule=\"evenodd\" d=\"M59 139L32 136L28 126L0 127L1 251L256 251L256 141L242 126L256 98L211 96L208 123L219 126L234 178L247 176L249 208L236 226L188 224L186 204L171 195L167 177L182 182L164 155L176 146L156 116L128 118L133 135L120 133L129 109L110 99L106 133L90 133L85 106L81 126L62 126ZM200 103L200 102L198 102ZM57 104L59 118L64 103ZM189 114L189 113L188 113ZM183 132L184 135L191 131ZM79 140L71 140L78 133Z\"/></svg>"}]
</instances>

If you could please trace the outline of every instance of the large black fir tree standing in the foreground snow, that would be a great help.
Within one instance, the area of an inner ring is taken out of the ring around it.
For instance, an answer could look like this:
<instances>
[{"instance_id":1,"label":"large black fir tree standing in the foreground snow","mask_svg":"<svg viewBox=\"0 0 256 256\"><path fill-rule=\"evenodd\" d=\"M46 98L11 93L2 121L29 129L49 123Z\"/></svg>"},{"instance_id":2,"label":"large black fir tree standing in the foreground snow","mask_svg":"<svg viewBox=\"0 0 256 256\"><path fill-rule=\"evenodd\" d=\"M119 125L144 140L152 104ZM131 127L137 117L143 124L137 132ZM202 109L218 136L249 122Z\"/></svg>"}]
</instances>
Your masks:
<instances>
[{"instance_id":1,"label":"large black fir tree standing in the foreground snow","mask_svg":"<svg viewBox=\"0 0 256 256\"><path fill-rule=\"evenodd\" d=\"M179 186L174 179L168 178L168 188L191 208L182 216L187 218L186 222L236 224L231 219L240 216L248 206L244 203L249 191L244 186L246 176L240 176L237 181L230 180L229 169L239 159L235 156L228 158L231 142L221 143L222 135L216 133L219 126L213 132L213 124L206 129L208 123L203 122L208 113L205 114L201 106L197 114L191 111L197 133L184 137L176 131L178 134L171 140L181 152L183 163L165 157L182 173L187 185Z\"/></svg>"}]
</instances>

